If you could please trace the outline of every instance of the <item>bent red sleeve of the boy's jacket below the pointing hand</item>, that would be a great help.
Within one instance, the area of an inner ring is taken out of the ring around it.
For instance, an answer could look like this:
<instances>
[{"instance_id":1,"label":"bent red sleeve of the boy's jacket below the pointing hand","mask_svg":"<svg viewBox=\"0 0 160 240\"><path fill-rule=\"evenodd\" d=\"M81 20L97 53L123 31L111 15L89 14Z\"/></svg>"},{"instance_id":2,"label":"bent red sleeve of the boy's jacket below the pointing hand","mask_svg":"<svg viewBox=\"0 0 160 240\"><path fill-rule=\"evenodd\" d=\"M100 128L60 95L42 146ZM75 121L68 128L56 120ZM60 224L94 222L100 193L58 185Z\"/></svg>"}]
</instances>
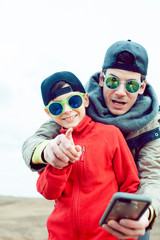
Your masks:
<instances>
[{"instance_id":1,"label":"bent red sleeve of the boy's jacket below the pointing hand","mask_svg":"<svg viewBox=\"0 0 160 240\"><path fill-rule=\"evenodd\" d=\"M48 164L44 170L39 172L37 191L48 200L59 198L66 187L71 169L72 164L63 169L56 169Z\"/></svg>"}]
</instances>

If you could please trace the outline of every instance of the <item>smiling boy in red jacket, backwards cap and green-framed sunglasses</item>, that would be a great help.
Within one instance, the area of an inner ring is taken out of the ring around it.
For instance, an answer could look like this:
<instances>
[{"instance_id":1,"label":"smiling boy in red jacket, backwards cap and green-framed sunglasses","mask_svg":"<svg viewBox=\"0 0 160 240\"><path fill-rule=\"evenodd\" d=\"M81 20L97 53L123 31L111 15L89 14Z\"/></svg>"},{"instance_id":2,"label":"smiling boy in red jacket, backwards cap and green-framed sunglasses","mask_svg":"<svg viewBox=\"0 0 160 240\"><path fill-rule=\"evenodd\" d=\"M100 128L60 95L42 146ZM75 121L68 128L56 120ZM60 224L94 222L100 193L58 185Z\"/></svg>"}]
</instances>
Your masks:
<instances>
[{"instance_id":1,"label":"smiling boy in red jacket, backwards cap and green-framed sunglasses","mask_svg":"<svg viewBox=\"0 0 160 240\"><path fill-rule=\"evenodd\" d=\"M99 220L115 192L135 193L140 182L121 132L86 115L88 94L74 74L55 73L41 90L45 111L81 155L62 168L48 164L39 173L37 190L56 204L47 222L48 239L117 239Z\"/></svg>"}]
</instances>

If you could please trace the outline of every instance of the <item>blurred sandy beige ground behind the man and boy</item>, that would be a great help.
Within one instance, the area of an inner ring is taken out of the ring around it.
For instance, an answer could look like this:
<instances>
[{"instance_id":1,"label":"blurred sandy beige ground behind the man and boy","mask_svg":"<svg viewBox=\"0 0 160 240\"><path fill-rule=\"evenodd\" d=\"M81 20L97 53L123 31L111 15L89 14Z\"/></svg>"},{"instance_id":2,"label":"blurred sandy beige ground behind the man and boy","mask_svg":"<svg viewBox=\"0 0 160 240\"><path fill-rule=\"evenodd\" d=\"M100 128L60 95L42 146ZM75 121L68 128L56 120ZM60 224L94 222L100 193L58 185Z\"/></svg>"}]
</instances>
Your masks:
<instances>
[{"instance_id":1,"label":"blurred sandy beige ground behind the man and boy","mask_svg":"<svg viewBox=\"0 0 160 240\"><path fill-rule=\"evenodd\" d=\"M53 201L0 196L0 240L47 240L46 221ZM150 240L160 239L160 218Z\"/></svg>"}]
</instances>

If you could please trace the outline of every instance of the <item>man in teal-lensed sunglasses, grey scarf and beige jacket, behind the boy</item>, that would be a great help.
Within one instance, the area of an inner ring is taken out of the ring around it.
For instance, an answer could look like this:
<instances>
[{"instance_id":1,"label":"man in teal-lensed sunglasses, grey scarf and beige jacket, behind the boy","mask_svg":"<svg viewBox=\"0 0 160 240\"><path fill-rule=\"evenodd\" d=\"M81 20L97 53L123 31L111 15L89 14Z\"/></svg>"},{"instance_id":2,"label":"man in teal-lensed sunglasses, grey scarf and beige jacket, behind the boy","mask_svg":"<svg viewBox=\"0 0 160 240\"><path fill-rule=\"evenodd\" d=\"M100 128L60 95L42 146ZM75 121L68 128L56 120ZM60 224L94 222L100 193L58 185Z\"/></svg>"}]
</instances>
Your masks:
<instances>
[{"instance_id":1,"label":"man in teal-lensed sunglasses, grey scarf and beige jacket, behind the boy","mask_svg":"<svg viewBox=\"0 0 160 240\"><path fill-rule=\"evenodd\" d=\"M113 124L122 131L141 180L137 193L153 201L139 221L122 219L105 226L120 239L143 235L160 213L160 117L156 94L146 82L147 69L146 50L130 40L119 41L108 48L102 72L94 74L86 85L90 97L87 114L94 121ZM56 137L58 134L59 126L52 121L26 140L23 157L32 170L43 169L47 162L54 166L57 158L56 167L62 168L78 158L67 138ZM148 235L139 239L149 239Z\"/></svg>"}]
</instances>

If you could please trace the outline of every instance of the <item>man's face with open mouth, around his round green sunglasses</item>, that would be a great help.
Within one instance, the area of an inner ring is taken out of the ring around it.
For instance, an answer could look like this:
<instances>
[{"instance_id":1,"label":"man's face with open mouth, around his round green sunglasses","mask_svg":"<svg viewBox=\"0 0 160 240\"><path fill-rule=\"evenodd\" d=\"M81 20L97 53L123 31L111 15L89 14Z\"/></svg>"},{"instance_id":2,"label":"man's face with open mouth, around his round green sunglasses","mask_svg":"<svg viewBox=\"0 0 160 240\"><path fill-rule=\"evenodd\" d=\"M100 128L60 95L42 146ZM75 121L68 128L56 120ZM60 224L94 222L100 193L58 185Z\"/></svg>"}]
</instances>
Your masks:
<instances>
[{"instance_id":1,"label":"man's face with open mouth, around his round green sunglasses","mask_svg":"<svg viewBox=\"0 0 160 240\"><path fill-rule=\"evenodd\" d=\"M99 85L103 87L103 97L106 106L114 115L123 115L127 113L137 100L138 94L143 94L146 81L136 93L129 93L126 90L125 83L128 80L136 80L141 83L141 74L121 69L107 69L106 76L114 76L120 80L120 85L116 89L110 89L100 76Z\"/></svg>"}]
</instances>

